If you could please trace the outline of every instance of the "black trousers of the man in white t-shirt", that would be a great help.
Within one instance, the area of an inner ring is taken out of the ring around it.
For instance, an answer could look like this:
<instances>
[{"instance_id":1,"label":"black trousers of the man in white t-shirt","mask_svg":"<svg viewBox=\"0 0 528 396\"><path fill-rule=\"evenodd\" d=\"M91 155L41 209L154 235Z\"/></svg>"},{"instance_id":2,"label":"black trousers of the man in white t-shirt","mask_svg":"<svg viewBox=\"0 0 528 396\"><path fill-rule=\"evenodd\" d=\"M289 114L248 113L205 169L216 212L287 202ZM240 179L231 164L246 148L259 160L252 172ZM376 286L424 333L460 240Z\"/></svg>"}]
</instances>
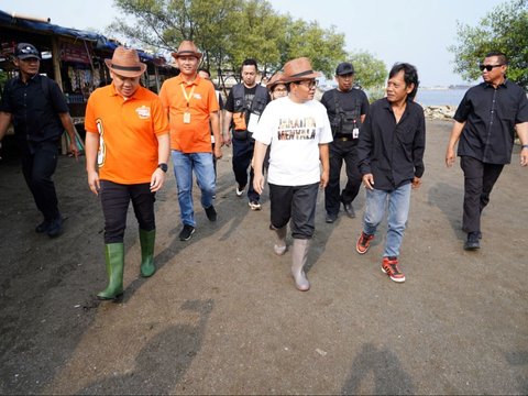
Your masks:
<instances>
[{"instance_id":1,"label":"black trousers of the man in white t-shirt","mask_svg":"<svg viewBox=\"0 0 528 396\"><path fill-rule=\"evenodd\" d=\"M270 184L271 222L274 229L289 228L295 239L314 237L316 204L319 183L306 186L277 186Z\"/></svg>"}]
</instances>

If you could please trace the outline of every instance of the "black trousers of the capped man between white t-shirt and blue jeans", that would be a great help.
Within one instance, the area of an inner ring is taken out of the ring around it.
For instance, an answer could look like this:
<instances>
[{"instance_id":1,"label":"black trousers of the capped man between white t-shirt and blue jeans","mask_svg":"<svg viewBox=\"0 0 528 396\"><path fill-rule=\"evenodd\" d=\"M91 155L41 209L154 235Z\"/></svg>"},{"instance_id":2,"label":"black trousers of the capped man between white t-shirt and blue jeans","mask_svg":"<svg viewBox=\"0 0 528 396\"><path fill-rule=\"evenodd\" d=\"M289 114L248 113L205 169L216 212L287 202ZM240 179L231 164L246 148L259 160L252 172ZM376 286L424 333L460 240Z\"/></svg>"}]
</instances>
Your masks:
<instances>
[{"instance_id":1,"label":"black trousers of the capped man between white t-shirt and blue jeans","mask_svg":"<svg viewBox=\"0 0 528 396\"><path fill-rule=\"evenodd\" d=\"M341 167L346 166L346 185L340 191ZM358 168L358 152L353 141L334 140L330 143L330 179L324 188L324 209L328 215L338 215L341 202L352 202L361 188L361 173Z\"/></svg>"}]
</instances>

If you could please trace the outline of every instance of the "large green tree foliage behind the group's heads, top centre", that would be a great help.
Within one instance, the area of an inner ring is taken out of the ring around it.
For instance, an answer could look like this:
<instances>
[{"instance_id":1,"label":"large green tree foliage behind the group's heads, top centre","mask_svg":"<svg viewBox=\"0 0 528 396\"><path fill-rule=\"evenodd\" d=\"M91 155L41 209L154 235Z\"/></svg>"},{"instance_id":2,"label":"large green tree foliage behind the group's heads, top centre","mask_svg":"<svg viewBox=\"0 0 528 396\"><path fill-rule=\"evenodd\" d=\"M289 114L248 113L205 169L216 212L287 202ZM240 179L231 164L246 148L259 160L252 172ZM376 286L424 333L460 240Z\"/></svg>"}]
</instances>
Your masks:
<instances>
[{"instance_id":1,"label":"large green tree foliage behind the group's heads, top centre","mask_svg":"<svg viewBox=\"0 0 528 396\"><path fill-rule=\"evenodd\" d=\"M193 40L213 75L238 72L249 57L272 74L292 58L308 56L314 69L331 76L345 56L344 35L333 26L294 21L266 0L114 0L114 6L123 18L109 31L169 52L183 40Z\"/></svg>"}]
</instances>

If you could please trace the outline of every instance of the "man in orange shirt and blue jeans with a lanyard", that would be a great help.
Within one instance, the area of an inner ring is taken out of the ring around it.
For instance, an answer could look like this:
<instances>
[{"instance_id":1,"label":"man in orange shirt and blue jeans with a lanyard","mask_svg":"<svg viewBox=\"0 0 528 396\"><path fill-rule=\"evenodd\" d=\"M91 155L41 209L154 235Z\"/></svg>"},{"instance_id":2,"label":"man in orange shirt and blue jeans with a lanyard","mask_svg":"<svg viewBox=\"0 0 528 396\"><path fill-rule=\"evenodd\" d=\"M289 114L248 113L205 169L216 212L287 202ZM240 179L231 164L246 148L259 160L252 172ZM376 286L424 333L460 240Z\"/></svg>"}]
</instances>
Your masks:
<instances>
[{"instance_id":1,"label":"man in orange shirt and blue jeans with a lanyard","mask_svg":"<svg viewBox=\"0 0 528 396\"><path fill-rule=\"evenodd\" d=\"M222 157L219 105L215 87L198 76L201 54L191 41L184 41L178 52L173 53L180 70L179 76L167 79L160 91L163 107L170 123L170 151L174 175L178 188L178 202L184 228L180 241L187 241L195 232L193 206L193 170L201 189L201 206L209 221L217 220L212 205L216 194L216 177L212 155ZM211 147L209 120L215 136L215 153Z\"/></svg>"}]
</instances>

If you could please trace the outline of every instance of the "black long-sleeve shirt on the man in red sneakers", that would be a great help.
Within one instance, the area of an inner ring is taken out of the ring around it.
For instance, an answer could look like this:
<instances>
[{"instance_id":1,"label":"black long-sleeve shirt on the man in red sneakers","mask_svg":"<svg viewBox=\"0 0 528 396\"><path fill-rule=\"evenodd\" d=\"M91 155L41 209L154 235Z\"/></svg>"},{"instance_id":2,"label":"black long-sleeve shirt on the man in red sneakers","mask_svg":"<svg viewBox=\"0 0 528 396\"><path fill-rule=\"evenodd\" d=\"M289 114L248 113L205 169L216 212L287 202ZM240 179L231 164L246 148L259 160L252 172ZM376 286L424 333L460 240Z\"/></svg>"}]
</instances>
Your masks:
<instances>
[{"instance_id":1,"label":"black long-sleeve shirt on the man in red sneakers","mask_svg":"<svg viewBox=\"0 0 528 396\"><path fill-rule=\"evenodd\" d=\"M372 103L360 132L358 160L362 175L373 174L374 188L393 190L424 175L426 120L424 109L407 101L396 123L386 98Z\"/></svg>"}]
</instances>

